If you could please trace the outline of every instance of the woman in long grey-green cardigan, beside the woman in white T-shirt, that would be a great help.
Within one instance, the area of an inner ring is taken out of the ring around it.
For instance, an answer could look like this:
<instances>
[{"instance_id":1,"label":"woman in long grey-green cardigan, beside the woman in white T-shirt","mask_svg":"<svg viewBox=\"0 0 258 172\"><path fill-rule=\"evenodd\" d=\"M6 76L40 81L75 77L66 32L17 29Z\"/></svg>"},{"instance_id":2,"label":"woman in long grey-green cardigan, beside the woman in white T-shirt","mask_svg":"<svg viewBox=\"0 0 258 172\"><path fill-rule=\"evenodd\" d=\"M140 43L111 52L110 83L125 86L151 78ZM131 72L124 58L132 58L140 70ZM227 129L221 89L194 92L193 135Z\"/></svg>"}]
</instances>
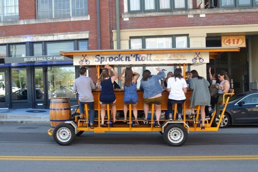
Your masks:
<instances>
[{"instance_id":1,"label":"woman in long grey-green cardigan, beside the woman in white T-shirt","mask_svg":"<svg viewBox=\"0 0 258 172\"><path fill-rule=\"evenodd\" d=\"M210 83L203 77L198 75L196 70L190 72L192 74L192 79L190 79L190 89L193 90L192 96L190 97L191 103L190 107L193 108L200 105L202 126L201 129L205 129L205 106L211 104L211 96L208 89Z\"/></svg>"}]
</instances>

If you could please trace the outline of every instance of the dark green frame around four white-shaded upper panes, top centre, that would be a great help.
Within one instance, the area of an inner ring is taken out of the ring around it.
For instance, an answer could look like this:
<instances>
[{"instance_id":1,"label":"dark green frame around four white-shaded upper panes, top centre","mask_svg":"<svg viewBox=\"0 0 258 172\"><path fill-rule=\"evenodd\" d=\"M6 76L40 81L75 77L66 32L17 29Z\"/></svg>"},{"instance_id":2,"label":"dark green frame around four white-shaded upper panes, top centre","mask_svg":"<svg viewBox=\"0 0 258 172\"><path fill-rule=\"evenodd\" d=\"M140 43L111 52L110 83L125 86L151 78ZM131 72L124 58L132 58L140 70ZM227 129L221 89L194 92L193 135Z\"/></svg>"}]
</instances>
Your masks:
<instances>
[{"instance_id":1,"label":"dark green frame around four white-shaded upper panes, top centre","mask_svg":"<svg viewBox=\"0 0 258 172\"><path fill-rule=\"evenodd\" d=\"M160 9L159 0L154 0L155 2L155 9L145 10L145 0L140 0L140 10L131 10L130 8L130 0L127 0L127 7L128 12L154 12L154 11L171 11L171 10L186 10L188 7L187 0L185 1L185 7L184 8L175 8L175 0L169 0L170 2L170 8L169 9Z\"/></svg>"}]
</instances>

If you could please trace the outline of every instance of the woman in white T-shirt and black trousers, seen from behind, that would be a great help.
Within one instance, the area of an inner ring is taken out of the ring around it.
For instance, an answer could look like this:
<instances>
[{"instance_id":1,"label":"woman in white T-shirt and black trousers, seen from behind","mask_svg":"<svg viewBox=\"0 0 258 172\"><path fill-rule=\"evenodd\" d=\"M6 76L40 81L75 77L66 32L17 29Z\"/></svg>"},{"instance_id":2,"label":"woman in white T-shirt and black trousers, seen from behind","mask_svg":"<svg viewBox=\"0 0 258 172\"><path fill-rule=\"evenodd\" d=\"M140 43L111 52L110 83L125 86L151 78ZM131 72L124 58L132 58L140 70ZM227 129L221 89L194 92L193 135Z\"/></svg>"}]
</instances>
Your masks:
<instances>
[{"instance_id":1,"label":"woman in white T-shirt and black trousers, seen from behind","mask_svg":"<svg viewBox=\"0 0 258 172\"><path fill-rule=\"evenodd\" d=\"M182 121L182 104L185 102L185 93L187 92L187 83L182 77L182 69L176 68L173 77L168 79L167 91L169 92L168 99L168 111L169 111L169 121L172 119L172 105L177 103L178 111L178 121Z\"/></svg>"}]
</instances>

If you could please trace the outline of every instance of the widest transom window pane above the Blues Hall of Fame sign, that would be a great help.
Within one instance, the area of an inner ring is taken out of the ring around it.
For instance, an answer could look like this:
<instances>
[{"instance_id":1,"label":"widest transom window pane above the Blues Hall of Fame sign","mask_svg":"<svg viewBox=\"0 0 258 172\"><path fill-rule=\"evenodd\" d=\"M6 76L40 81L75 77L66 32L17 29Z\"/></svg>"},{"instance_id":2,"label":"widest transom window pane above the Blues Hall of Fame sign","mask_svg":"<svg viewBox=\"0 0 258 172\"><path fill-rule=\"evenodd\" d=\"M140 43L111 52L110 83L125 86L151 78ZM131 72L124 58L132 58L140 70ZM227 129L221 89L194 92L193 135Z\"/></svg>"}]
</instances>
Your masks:
<instances>
[{"instance_id":1,"label":"widest transom window pane above the Blues Hall of Fame sign","mask_svg":"<svg viewBox=\"0 0 258 172\"><path fill-rule=\"evenodd\" d=\"M60 54L60 51L74 51L74 42L47 43L47 55Z\"/></svg>"}]
</instances>

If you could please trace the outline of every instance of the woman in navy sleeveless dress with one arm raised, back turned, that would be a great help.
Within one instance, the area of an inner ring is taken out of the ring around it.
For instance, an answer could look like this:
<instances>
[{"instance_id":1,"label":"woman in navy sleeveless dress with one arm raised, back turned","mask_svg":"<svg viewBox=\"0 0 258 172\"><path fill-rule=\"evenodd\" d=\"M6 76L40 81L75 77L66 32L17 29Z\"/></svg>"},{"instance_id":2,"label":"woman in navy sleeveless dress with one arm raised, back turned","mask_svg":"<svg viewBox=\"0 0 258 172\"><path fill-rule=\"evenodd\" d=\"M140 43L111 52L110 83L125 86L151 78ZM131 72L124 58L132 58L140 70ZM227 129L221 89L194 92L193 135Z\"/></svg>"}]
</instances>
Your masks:
<instances>
[{"instance_id":1,"label":"woman in navy sleeveless dress with one arm raised, back turned","mask_svg":"<svg viewBox=\"0 0 258 172\"><path fill-rule=\"evenodd\" d=\"M113 72L113 76L109 75L109 71ZM106 104L111 104L112 106L112 114L113 114L113 123L117 121L116 113L116 96L114 94L113 85L114 81L118 78L118 74L109 64L105 66L102 70L101 75L99 77L99 82L101 84L101 92L99 96L99 103L101 105L100 116L101 116L101 126L105 126L104 119L106 115Z\"/></svg>"}]
</instances>

